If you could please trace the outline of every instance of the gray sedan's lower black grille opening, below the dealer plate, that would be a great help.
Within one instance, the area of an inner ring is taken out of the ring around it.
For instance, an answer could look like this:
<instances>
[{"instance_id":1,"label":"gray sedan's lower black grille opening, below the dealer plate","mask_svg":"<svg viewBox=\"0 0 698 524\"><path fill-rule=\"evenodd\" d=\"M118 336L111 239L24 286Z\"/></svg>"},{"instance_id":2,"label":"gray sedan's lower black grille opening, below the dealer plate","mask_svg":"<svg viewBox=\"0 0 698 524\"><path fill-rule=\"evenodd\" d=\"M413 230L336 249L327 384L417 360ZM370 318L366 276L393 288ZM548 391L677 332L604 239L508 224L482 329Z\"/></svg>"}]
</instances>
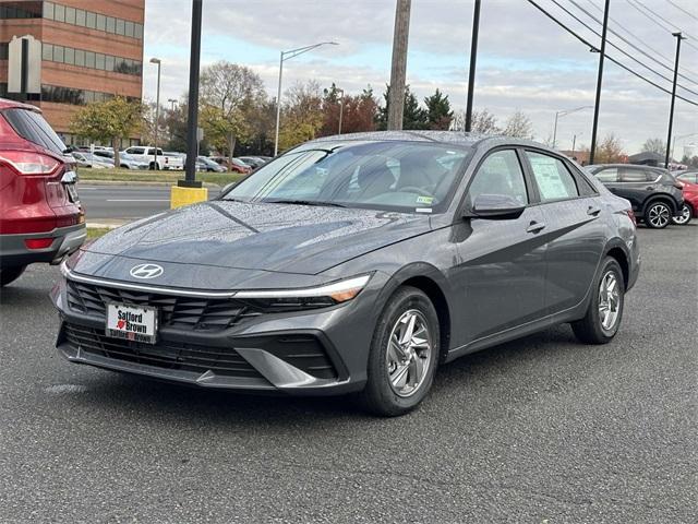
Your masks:
<instances>
[{"instance_id":1,"label":"gray sedan's lower black grille opening, below the dealer plate","mask_svg":"<svg viewBox=\"0 0 698 524\"><path fill-rule=\"evenodd\" d=\"M101 331L64 323L65 340L81 350L127 362L219 376L263 378L234 349L160 341L157 345L111 338Z\"/></svg>"}]
</instances>

